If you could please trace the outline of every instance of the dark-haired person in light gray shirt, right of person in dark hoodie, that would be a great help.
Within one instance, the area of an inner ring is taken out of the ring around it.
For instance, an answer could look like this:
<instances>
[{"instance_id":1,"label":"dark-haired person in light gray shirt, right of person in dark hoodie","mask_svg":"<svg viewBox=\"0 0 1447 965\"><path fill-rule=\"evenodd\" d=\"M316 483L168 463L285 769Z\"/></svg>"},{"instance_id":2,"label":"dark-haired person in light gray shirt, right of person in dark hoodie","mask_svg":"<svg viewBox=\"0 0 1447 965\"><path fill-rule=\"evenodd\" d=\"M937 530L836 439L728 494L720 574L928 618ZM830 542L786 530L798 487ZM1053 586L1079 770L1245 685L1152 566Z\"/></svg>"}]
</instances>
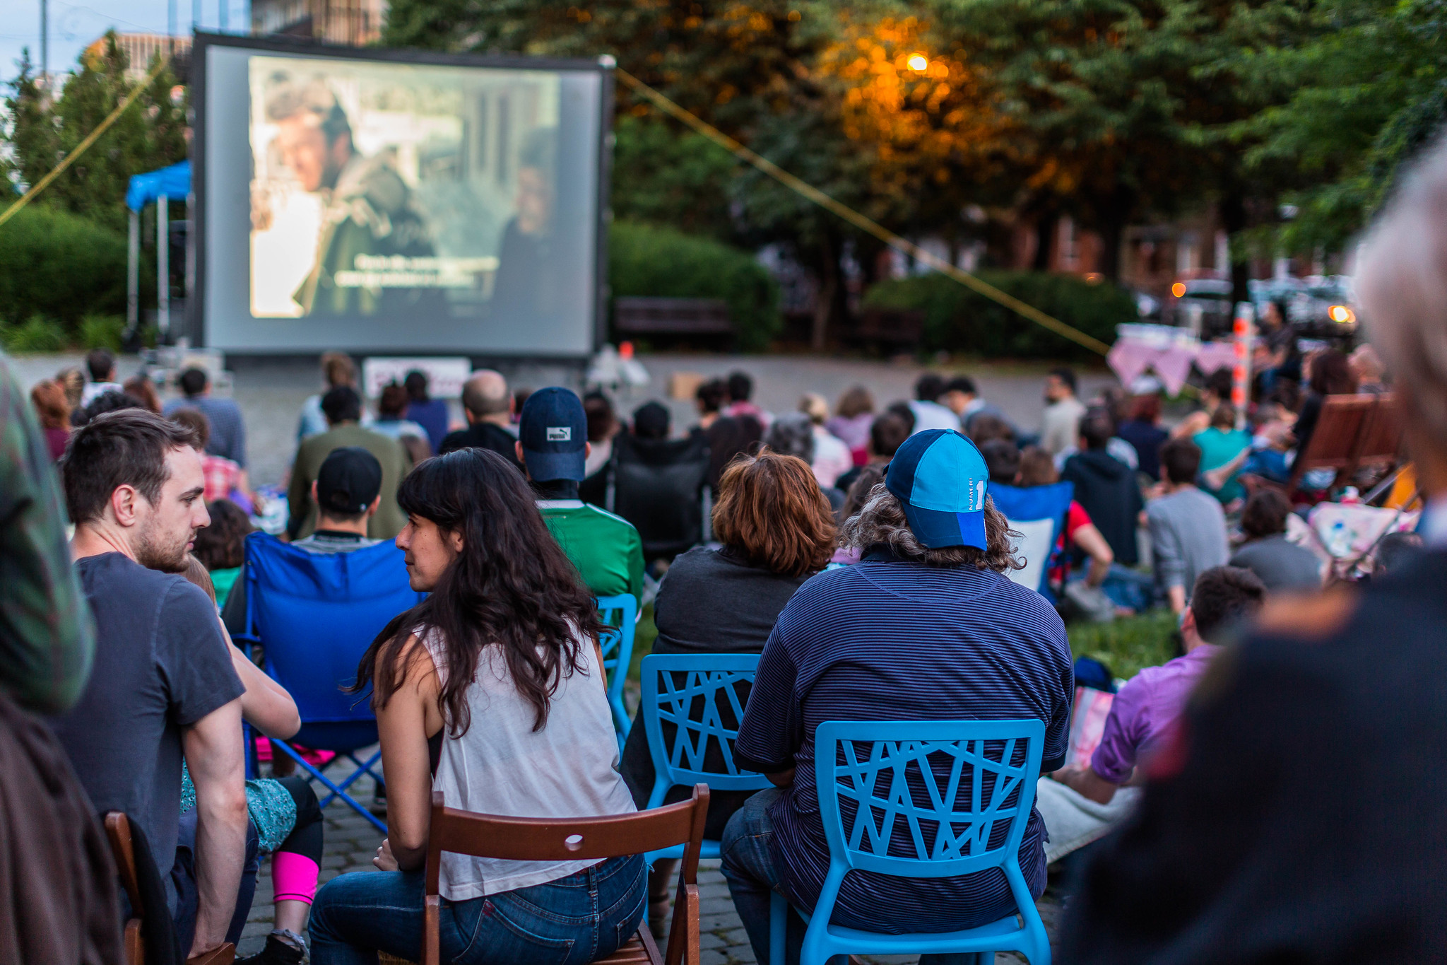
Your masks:
<instances>
[{"instance_id":1,"label":"dark-haired person in light gray shirt, right of person in dark hoodie","mask_svg":"<svg viewBox=\"0 0 1447 965\"><path fill-rule=\"evenodd\" d=\"M1187 587L1213 566L1226 566L1226 515L1221 503L1195 486L1201 447L1175 438L1160 447L1160 480L1166 495L1146 505L1156 589L1179 613L1189 602Z\"/></svg>"}]
</instances>

